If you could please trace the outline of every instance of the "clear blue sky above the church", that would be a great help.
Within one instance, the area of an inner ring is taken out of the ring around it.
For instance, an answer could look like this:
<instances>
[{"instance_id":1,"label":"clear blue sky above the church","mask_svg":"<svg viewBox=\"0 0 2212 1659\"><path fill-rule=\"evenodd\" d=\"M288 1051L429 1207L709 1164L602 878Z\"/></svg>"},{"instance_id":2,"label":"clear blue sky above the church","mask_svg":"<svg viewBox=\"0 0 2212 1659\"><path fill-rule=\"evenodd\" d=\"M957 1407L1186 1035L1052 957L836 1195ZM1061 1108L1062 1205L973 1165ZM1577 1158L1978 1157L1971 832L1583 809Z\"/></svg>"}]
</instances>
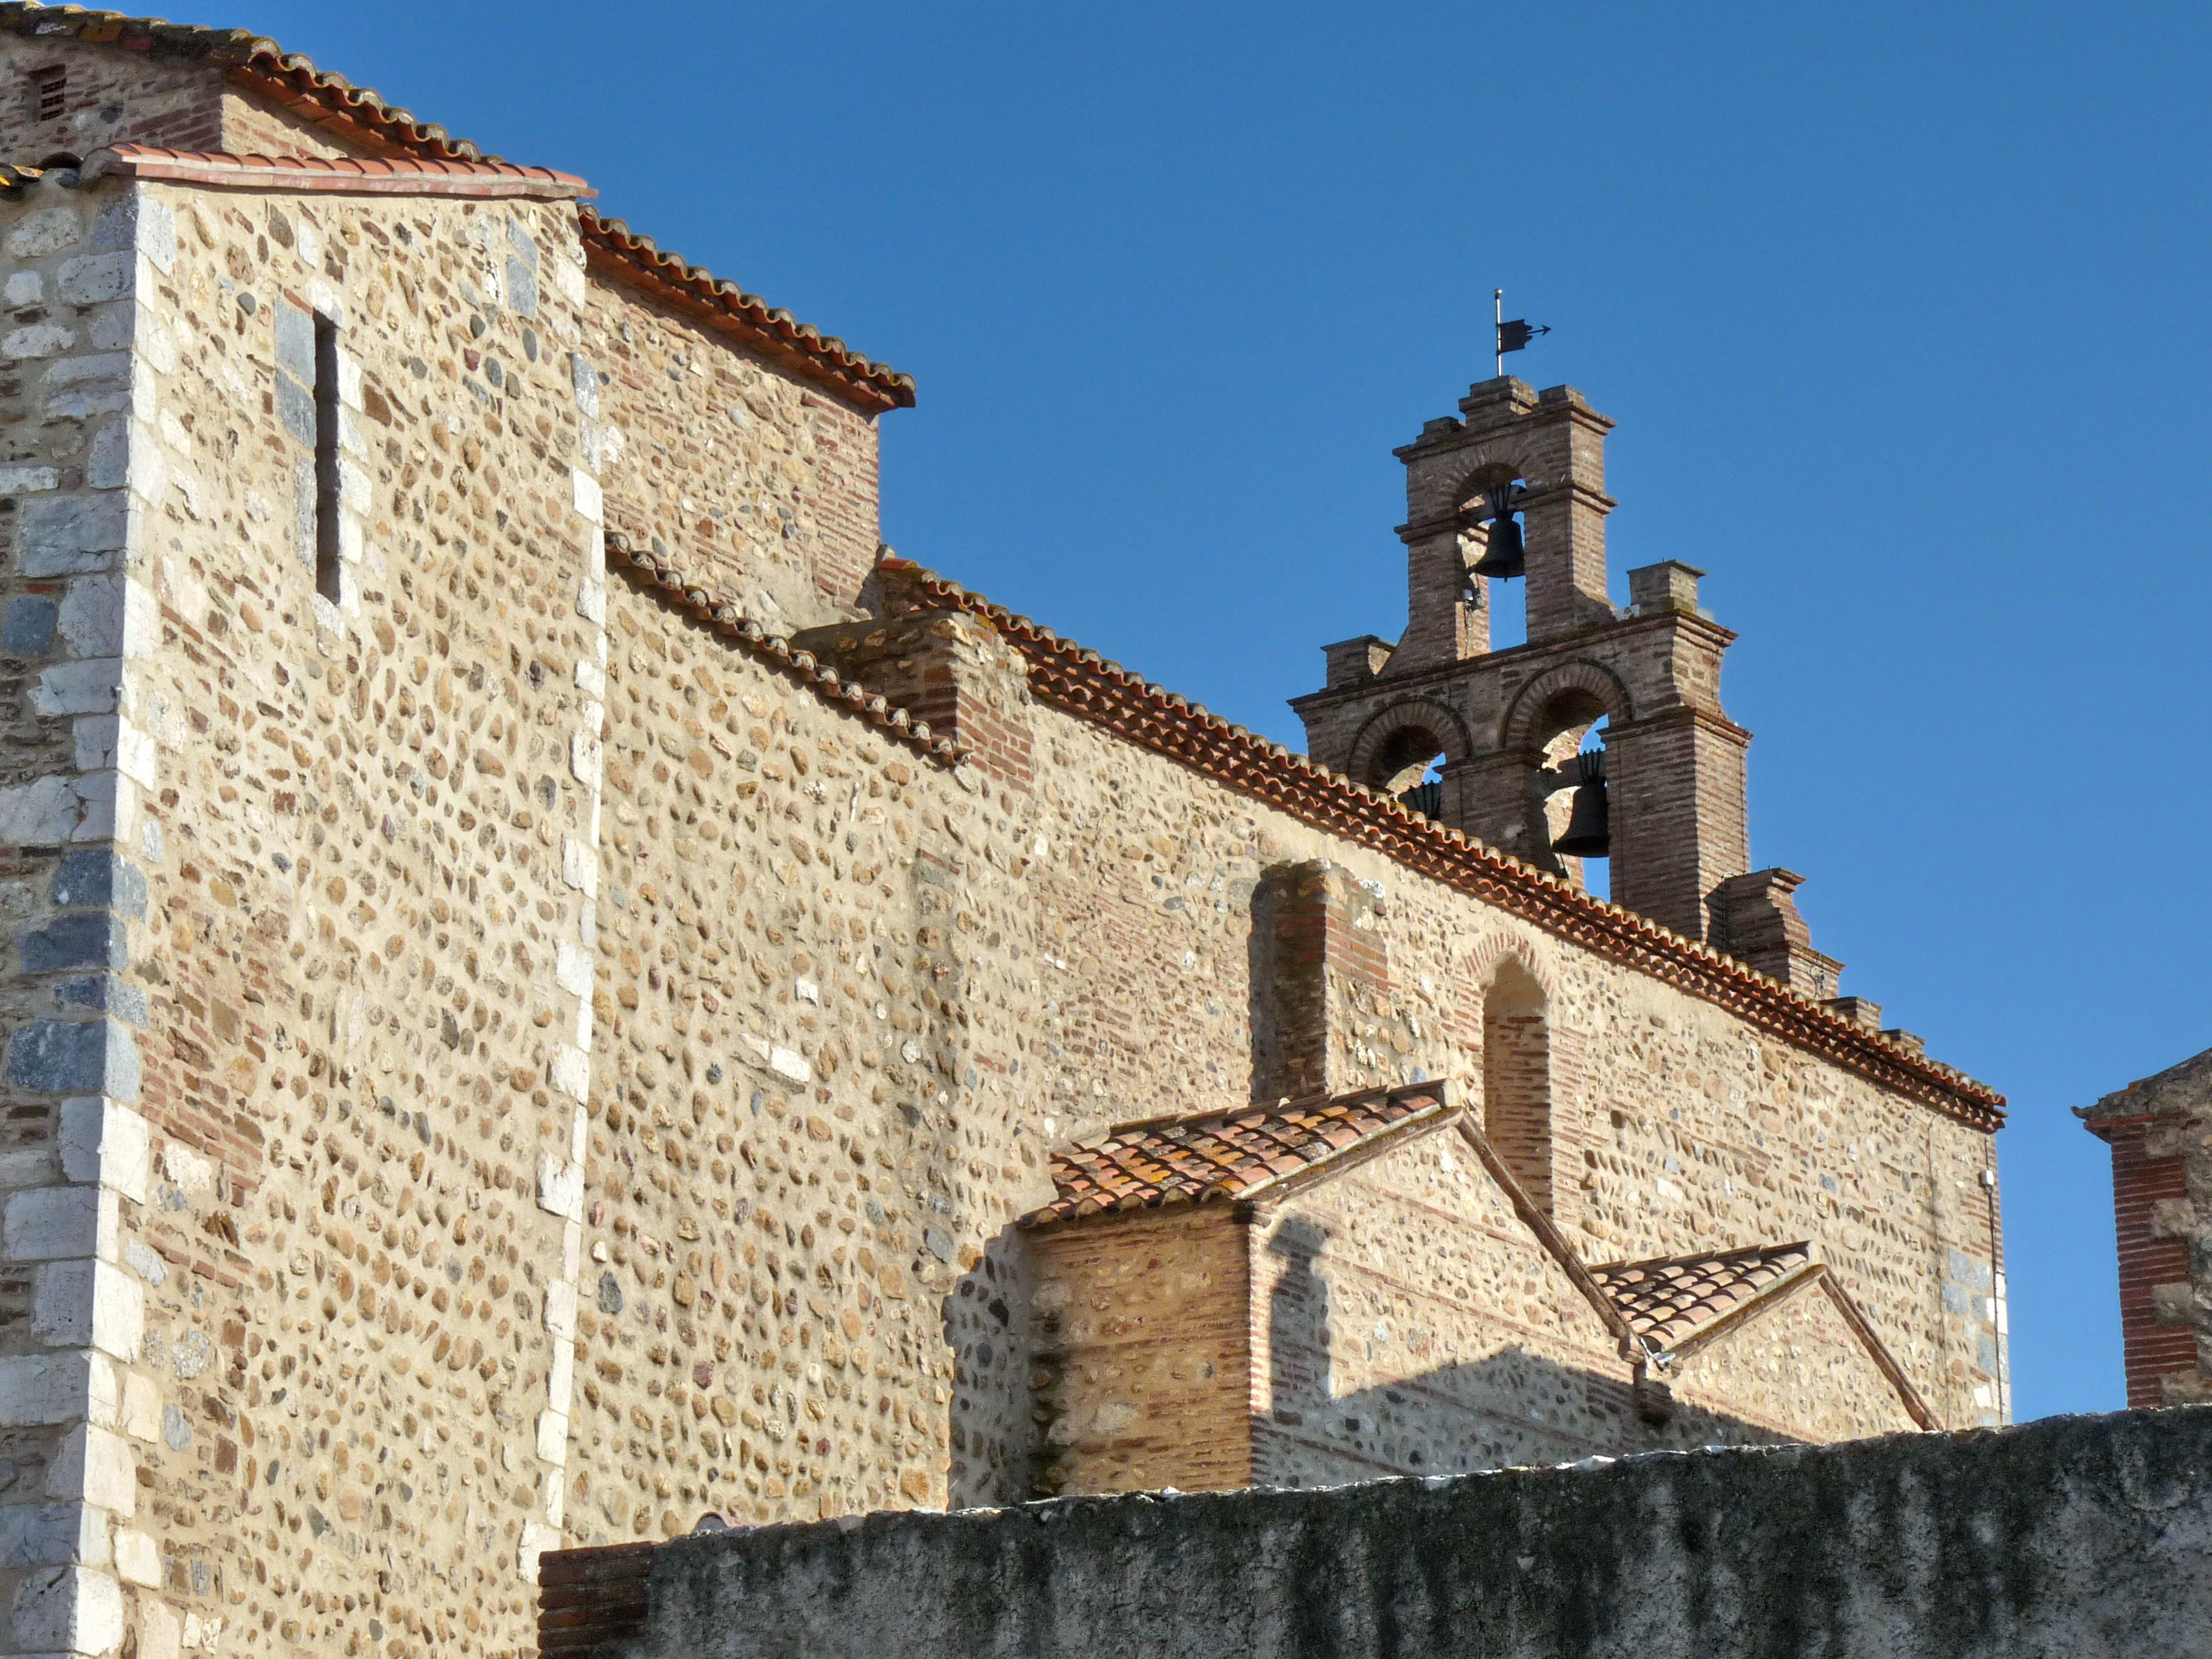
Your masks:
<instances>
[{"instance_id":1,"label":"clear blue sky above the church","mask_svg":"<svg viewBox=\"0 0 2212 1659\"><path fill-rule=\"evenodd\" d=\"M1402 626L1391 447L1619 420L1613 568L1741 630L1752 856L2013 1099L2020 1416L2121 1400L2104 1148L2212 1046L2201 7L173 7L920 380L885 533L1296 743ZM1617 597L1624 597L1617 593Z\"/></svg>"}]
</instances>

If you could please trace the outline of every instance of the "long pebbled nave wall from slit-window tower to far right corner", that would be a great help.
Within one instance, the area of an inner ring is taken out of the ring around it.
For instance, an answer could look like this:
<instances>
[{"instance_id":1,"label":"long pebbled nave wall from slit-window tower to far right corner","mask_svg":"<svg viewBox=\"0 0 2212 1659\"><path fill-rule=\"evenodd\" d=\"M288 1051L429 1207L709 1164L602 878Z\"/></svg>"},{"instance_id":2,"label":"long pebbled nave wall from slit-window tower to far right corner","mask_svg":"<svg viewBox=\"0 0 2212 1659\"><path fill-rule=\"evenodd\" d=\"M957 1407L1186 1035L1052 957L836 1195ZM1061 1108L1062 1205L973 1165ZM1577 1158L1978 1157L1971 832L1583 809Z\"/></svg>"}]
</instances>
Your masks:
<instances>
[{"instance_id":1,"label":"long pebbled nave wall from slit-window tower to far right corner","mask_svg":"<svg viewBox=\"0 0 2212 1659\"><path fill-rule=\"evenodd\" d=\"M1051 1144L1248 1097L1252 896L1283 860L1376 896L1391 1006L1343 1004L1383 1042L1345 1035L1363 1077L1480 1099L1482 987L1533 967L1588 1261L1816 1239L1947 1422L1995 1416L1989 1283L1960 1281L1991 1261L1980 1130L1042 703L1035 774L1002 781L918 761L659 588L617 580L611 639L573 1535L1024 1495L1006 1223ZM1756 1396L1750 1354L1699 1385Z\"/></svg>"}]
</instances>

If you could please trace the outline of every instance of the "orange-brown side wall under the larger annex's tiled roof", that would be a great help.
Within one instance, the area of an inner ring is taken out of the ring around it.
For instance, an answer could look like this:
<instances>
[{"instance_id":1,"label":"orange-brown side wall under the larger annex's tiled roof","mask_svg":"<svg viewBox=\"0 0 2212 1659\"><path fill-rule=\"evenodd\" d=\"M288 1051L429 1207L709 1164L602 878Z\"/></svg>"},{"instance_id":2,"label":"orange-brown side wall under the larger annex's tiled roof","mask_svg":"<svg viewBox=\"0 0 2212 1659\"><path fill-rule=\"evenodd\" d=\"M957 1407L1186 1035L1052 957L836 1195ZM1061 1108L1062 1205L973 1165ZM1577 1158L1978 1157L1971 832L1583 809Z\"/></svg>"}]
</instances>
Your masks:
<instances>
[{"instance_id":1,"label":"orange-brown side wall under the larger annex's tiled roof","mask_svg":"<svg viewBox=\"0 0 2212 1659\"><path fill-rule=\"evenodd\" d=\"M1250 1486L1245 1223L1186 1206L1035 1234L1035 1493Z\"/></svg>"}]
</instances>

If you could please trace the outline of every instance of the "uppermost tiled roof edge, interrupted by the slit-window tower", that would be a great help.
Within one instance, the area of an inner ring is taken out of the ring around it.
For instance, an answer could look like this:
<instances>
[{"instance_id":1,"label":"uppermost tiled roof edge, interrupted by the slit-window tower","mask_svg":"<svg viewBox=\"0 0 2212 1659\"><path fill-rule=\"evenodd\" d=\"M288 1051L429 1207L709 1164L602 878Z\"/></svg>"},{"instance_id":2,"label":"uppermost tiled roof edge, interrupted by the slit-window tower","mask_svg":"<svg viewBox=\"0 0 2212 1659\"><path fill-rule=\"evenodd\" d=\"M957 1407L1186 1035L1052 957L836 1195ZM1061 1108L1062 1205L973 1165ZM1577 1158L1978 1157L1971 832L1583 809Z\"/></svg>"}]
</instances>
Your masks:
<instances>
[{"instance_id":1,"label":"uppermost tiled roof edge, interrupted by the slit-window tower","mask_svg":"<svg viewBox=\"0 0 2212 1659\"><path fill-rule=\"evenodd\" d=\"M164 18L133 18L122 11L86 11L84 7L42 7L35 0L0 0L0 31L31 38L62 38L104 46L144 51L170 60L199 60L223 69L232 84L263 97L310 126L330 128L349 144L372 150L398 150L427 161L498 161L476 144L458 139L442 126L418 122L409 111L387 104L367 86L354 86L345 75L316 69L310 58L288 53L268 35L250 29L204 29ZM566 177L566 175L562 175ZM914 407L914 378L872 363L843 341L796 323L790 312L741 294L734 283L666 254L648 239L635 237L619 221L604 221L591 210L580 212L586 250L597 248L602 268L641 288L661 292L695 310L717 314L730 332L772 358L787 361L801 374L849 398L869 414ZM619 234L599 234L613 226Z\"/></svg>"}]
</instances>

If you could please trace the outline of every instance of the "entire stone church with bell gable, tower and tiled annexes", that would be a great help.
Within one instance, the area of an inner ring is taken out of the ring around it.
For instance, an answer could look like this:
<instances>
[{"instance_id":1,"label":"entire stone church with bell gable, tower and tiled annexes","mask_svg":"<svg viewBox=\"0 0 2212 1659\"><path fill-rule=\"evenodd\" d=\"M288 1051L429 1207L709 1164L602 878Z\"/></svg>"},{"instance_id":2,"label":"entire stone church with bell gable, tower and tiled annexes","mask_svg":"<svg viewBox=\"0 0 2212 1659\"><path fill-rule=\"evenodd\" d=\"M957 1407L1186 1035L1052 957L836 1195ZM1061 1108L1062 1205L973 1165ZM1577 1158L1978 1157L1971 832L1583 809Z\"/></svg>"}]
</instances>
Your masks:
<instances>
[{"instance_id":1,"label":"entire stone church with bell gable, tower and tiled annexes","mask_svg":"<svg viewBox=\"0 0 2212 1659\"><path fill-rule=\"evenodd\" d=\"M2002 1099L1752 869L1732 635L1610 597L1579 394L1400 451L1407 628L1301 757L891 557L914 385L577 177L20 2L0 133L7 1652L2002 1418Z\"/></svg>"}]
</instances>

